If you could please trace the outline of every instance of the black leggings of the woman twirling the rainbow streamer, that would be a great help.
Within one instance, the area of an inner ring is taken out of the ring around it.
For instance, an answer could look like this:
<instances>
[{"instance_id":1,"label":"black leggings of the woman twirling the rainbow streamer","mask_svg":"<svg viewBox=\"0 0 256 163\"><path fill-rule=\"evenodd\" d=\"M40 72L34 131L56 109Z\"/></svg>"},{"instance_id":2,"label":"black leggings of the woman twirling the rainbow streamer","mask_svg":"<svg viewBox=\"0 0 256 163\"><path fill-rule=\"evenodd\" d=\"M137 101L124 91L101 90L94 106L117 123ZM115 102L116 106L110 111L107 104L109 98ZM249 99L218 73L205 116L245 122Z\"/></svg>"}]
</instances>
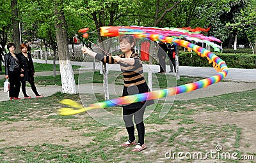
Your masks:
<instances>
[{"instance_id":1,"label":"black leggings of the woman twirling the rainbow streamer","mask_svg":"<svg viewBox=\"0 0 256 163\"><path fill-rule=\"evenodd\" d=\"M134 117L134 122L136 124L137 132L138 132L138 144L144 144L145 137L145 125L143 122L143 115L145 111L145 106L138 109L124 109L123 108L123 119L125 122L125 127L129 135L129 141L135 140L134 135L134 124L132 118Z\"/></svg>"}]
</instances>

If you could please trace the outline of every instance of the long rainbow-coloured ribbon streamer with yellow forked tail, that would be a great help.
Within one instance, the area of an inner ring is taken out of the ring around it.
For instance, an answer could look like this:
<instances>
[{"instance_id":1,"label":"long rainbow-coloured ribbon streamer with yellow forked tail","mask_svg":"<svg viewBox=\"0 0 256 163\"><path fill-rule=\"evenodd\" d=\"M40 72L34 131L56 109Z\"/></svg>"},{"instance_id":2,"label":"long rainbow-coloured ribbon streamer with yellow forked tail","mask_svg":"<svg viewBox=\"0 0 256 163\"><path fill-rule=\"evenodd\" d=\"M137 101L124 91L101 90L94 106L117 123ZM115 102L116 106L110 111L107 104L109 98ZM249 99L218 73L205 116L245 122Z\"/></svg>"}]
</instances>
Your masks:
<instances>
[{"instance_id":1,"label":"long rainbow-coloured ribbon streamer with yellow forked tail","mask_svg":"<svg viewBox=\"0 0 256 163\"><path fill-rule=\"evenodd\" d=\"M162 32L161 32L162 31ZM145 92L142 94L135 94L131 96L119 97L116 99L111 99L108 101L102 101L99 103L91 104L88 107L83 107L81 104L76 103L70 99L63 99L60 101L61 104L67 104L68 106L72 106L73 108L61 108L59 110L60 115L74 115L77 113L82 113L84 111L99 109L99 108L108 108L111 106L123 105L123 104L131 104L140 101L147 101L150 99L159 99L166 96L173 96L175 94L182 94L184 92L190 92L196 89L202 89L214 83L218 83L223 78L225 78L228 74L228 67L225 61L220 59L217 55L202 48L200 46L194 45L193 43L189 43L183 39L200 41L207 43L214 47L214 49L219 48L218 45L212 43L212 41L221 42L219 39L213 37L204 36L198 32L204 31L203 29L160 29L154 27L138 27L138 26L129 26L129 27L101 27L100 34L101 36L122 36L125 34L130 34L136 36L136 38L148 38L152 41L164 41L166 43L175 43L176 45L183 46L185 48L189 48L196 52L201 57L207 57L209 63L212 63L212 66L219 71L216 75L211 76L209 78L205 78L203 80L195 81L193 83L188 83L185 85L180 85L177 87L171 87L168 89L155 90L152 92ZM174 37L172 37L174 36ZM183 39L180 39L183 38ZM204 40L203 40L204 39Z\"/></svg>"}]
</instances>

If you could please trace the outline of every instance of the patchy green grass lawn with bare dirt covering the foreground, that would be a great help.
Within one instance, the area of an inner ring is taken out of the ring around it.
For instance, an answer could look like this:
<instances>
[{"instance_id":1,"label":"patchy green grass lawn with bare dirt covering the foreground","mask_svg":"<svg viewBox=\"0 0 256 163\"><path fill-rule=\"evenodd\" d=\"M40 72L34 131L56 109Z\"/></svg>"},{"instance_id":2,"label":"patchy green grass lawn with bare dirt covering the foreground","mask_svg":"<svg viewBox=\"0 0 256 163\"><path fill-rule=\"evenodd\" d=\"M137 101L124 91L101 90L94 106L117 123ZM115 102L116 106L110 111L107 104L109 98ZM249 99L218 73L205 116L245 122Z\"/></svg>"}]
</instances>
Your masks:
<instances>
[{"instance_id":1,"label":"patchy green grass lawn with bare dirt covering the foreground","mask_svg":"<svg viewBox=\"0 0 256 163\"><path fill-rule=\"evenodd\" d=\"M166 152L207 153L215 150L216 145L221 145L223 152L237 153L237 157L251 155L256 159L256 152L246 152L253 142L244 144L241 140L248 129L240 127L236 119L243 114L255 115L255 94L256 90L249 90L175 101L164 118L159 118L159 112L166 102L159 101L145 120L148 148L139 153L132 153L132 147L120 147L128 138L125 128L102 125L88 113L66 117L56 114L58 108L66 107L58 101L79 102L78 94L56 93L43 99L3 101L0 103L0 162L174 162L165 158ZM87 97L83 98L83 103L95 102L90 98L93 95L80 96ZM104 98L103 94L96 96ZM107 110L121 113L120 107ZM223 116L226 120L219 121L218 117ZM211 120L205 120L207 117ZM242 124L246 123L246 118ZM209 157L206 160L240 162Z\"/></svg>"}]
</instances>

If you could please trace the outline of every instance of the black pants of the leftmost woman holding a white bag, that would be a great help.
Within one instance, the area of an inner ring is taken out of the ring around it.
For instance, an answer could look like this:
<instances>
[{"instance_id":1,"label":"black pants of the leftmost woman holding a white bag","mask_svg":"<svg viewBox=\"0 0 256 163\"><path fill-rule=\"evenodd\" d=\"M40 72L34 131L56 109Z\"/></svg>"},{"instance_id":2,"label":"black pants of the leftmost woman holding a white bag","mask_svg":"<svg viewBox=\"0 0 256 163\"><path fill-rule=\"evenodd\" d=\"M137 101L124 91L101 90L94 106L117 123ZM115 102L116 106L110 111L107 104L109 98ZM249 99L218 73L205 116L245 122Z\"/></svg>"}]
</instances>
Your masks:
<instances>
[{"instance_id":1,"label":"black pants of the leftmost woman holding a white bag","mask_svg":"<svg viewBox=\"0 0 256 163\"><path fill-rule=\"evenodd\" d=\"M9 97L19 97L20 94L20 71L8 71L10 90Z\"/></svg>"}]
</instances>

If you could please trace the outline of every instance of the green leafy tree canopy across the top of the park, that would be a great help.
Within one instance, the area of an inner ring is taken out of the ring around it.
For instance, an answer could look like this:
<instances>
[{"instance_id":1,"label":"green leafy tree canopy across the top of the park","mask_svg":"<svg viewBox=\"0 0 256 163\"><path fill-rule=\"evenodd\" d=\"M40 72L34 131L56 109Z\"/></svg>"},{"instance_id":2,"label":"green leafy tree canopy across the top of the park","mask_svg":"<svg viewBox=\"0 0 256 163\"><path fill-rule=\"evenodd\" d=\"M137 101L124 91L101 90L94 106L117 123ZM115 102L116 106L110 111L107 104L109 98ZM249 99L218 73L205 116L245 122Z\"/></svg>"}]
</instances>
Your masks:
<instances>
[{"instance_id":1,"label":"green leafy tree canopy across the top of the park","mask_svg":"<svg viewBox=\"0 0 256 163\"><path fill-rule=\"evenodd\" d=\"M20 23L23 43L42 39L45 46L57 49L54 5L59 2L63 3L69 40L84 27L90 28L90 40L96 43L104 39L99 35L100 26L142 25L211 27L208 34L220 38L224 46L230 46L230 43L234 42L235 34L238 39L247 40L251 45L255 44L253 29L256 10L253 0L17 0L19 12L13 20L12 1L0 3L2 46L17 37L12 28L12 21L17 20ZM88 44L86 39L82 41Z\"/></svg>"}]
</instances>

